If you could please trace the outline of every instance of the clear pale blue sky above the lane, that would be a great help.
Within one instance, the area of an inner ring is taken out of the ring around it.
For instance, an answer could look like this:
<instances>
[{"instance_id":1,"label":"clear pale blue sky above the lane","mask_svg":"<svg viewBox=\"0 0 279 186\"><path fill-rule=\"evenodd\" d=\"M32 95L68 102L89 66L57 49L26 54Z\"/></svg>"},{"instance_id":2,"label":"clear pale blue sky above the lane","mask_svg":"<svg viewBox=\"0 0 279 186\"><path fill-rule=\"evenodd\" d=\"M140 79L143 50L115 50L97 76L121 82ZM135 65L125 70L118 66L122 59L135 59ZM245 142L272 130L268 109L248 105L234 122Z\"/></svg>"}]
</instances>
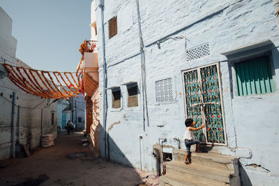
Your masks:
<instances>
[{"instance_id":1,"label":"clear pale blue sky above the lane","mask_svg":"<svg viewBox=\"0 0 279 186\"><path fill-rule=\"evenodd\" d=\"M75 72L80 45L91 36L91 1L0 0L13 20L16 57L34 69Z\"/></svg>"}]
</instances>

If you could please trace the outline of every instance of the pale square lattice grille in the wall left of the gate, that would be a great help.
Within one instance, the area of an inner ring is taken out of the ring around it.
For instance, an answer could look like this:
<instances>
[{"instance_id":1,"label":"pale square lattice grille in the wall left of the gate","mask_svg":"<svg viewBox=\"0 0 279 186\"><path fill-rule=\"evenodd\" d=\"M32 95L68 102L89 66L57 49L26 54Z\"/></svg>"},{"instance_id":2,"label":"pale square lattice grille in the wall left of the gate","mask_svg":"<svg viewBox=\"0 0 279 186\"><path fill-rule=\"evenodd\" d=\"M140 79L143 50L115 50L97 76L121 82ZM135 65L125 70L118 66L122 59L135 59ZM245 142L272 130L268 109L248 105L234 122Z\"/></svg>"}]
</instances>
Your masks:
<instances>
[{"instance_id":1,"label":"pale square lattice grille in the wall left of the gate","mask_svg":"<svg viewBox=\"0 0 279 186\"><path fill-rule=\"evenodd\" d=\"M174 100L172 95L172 78L162 79L156 84L156 102L171 102Z\"/></svg>"}]
</instances>

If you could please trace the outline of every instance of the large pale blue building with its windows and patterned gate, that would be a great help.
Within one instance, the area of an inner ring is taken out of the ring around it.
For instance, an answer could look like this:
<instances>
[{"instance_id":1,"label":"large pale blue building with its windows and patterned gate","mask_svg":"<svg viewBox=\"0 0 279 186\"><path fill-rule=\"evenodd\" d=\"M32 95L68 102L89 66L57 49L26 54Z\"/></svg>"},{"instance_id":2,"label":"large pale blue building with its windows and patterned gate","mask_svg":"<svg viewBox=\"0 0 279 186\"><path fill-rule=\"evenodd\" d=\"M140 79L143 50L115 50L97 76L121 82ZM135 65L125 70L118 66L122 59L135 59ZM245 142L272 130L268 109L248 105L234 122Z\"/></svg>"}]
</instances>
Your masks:
<instances>
[{"instance_id":1,"label":"large pale blue building with its windows and patterned gate","mask_svg":"<svg viewBox=\"0 0 279 186\"><path fill-rule=\"evenodd\" d=\"M101 157L156 172L193 118L243 185L279 183L273 1L96 2Z\"/></svg>"}]
</instances>

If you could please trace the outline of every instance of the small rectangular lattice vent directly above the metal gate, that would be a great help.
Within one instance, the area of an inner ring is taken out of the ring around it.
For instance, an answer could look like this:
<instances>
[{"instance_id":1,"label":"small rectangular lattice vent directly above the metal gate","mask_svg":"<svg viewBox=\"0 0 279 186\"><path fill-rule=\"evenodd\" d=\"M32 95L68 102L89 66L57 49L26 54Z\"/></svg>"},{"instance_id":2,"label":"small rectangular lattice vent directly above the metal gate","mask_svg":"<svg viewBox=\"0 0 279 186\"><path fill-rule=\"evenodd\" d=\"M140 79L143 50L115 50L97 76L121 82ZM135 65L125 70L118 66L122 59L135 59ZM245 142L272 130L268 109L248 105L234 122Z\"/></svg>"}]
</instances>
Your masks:
<instances>
[{"instance_id":1,"label":"small rectangular lattice vent directly above the metal gate","mask_svg":"<svg viewBox=\"0 0 279 186\"><path fill-rule=\"evenodd\" d=\"M193 49L188 49L186 51L186 58L187 61L193 60L193 59L198 59L203 56L209 56L209 44L206 45L201 45L199 47L195 47Z\"/></svg>"}]
</instances>

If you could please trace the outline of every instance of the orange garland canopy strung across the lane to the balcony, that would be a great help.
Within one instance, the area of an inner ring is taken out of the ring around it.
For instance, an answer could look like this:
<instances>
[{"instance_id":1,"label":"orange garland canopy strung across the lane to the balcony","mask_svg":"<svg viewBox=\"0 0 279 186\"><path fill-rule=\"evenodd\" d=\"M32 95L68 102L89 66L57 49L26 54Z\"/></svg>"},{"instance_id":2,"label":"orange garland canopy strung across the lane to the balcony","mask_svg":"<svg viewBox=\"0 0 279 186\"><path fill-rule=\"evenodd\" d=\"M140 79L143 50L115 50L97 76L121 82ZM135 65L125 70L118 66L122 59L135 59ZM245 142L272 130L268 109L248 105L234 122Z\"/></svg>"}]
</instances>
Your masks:
<instances>
[{"instance_id":1,"label":"orange garland canopy strung across the lane to the balcony","mask_svg":"<svg viewBox=\"0 0 279 186\"><path fill-rule=\"evenodd\" d=\"M80 45L82 59L77 66L76 72L52 72L45 70L34 70L22 66L14 66L3 63L8 71L8 78L22 91L40 96L41 98L70 98L82 93L84 95L84 81L93 87L98 86L98 82L89 77L82 68L85 52L93 52L96 48L96 42L84 40ZM98 64L98 63L97 63ZM98 72L98 67L94 70ZM98 78L98 77L97 77ZM86 86L87 87L87 86ZM92 88L87 88L91 92ZM87 90L86 89L86 90Z\"/></svg>"}]
</instances>

